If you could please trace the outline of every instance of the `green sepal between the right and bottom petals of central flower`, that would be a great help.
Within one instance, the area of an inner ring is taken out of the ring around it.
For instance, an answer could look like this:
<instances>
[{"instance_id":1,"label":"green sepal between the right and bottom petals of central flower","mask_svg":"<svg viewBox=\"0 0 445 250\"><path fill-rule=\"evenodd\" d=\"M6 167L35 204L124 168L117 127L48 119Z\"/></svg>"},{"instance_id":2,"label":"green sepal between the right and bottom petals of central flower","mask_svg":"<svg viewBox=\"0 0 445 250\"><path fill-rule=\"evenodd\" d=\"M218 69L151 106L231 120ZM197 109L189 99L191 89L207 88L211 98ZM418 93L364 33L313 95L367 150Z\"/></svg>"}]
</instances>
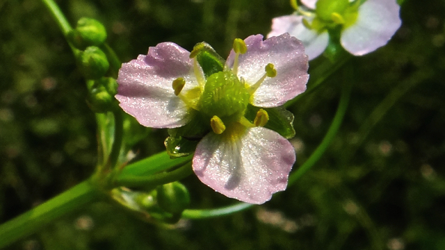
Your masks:
<instances>
[{"instance_id":1,"label":"green sepal between the right and bottom petals of central flower","mask_svg":"<svg viewBox=\"0 0 445 250\"><path fill-rule=\"evenodd\" d=\"M248 105L245 111L245 118L253 122L257 116L257 112L260 108ZM262 108L266 110L269 115L269 121L264 128L269 128L286 139L291 139L295 136L295 129L293 129L293 114L282 107L277 108Z\"/></svg>"}]
</instances>

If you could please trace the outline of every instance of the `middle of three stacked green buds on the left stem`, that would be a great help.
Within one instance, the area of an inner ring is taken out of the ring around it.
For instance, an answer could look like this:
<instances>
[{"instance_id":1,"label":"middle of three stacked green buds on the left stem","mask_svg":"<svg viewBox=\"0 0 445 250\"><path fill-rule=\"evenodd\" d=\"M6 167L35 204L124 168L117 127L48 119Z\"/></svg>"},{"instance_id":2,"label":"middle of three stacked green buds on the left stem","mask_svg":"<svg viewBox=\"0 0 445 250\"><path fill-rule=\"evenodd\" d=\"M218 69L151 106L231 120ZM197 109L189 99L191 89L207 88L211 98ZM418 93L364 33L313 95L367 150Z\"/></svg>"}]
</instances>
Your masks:
<instances>
[{"instance_id":1,"label":"middle of three stacked green buds on the left stem","mask_svg":"<svg viewBox=\"0 0 445 250\"><path fill-rule=\"evenodd\" d=\"M85 78L97 79L106 74L110 63L101 49L90 46L80 53L79 67Z\"/></svg>"}]
</instances>

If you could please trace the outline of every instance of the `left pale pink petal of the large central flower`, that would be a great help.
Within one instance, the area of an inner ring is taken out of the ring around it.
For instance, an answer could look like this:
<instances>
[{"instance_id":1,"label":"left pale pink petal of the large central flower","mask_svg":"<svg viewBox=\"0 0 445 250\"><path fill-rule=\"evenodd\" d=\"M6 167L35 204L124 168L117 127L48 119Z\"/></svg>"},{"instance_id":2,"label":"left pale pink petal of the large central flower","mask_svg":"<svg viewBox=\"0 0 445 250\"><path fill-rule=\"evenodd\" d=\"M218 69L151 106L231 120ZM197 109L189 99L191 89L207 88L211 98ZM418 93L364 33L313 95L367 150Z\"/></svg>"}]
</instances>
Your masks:
<instances>
[{"instance_id":1,"label":"left pale pink petal of the large central flower","mask_svg":"<svg viewBox=\"0 0 445 250\"><path fill-rule=\"evenodd\" d=\"M186 105L172 82L182 77L184 90L197 86L190 52L172 42L150 47L147 56L122 64L118 77L120 107L143 126L175 128L188 122Z\"/></svg>"}]
</instances>

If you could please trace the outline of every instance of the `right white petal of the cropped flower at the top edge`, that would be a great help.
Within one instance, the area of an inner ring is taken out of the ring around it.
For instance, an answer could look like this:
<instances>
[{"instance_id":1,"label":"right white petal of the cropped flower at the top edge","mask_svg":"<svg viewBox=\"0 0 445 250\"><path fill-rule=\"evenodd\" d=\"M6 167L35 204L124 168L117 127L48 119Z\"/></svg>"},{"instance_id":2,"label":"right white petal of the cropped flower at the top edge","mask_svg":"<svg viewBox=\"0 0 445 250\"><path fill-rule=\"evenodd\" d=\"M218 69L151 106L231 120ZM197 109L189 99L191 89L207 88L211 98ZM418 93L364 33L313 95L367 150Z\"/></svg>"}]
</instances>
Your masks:
<instances>
[{"instance_id":1,"label":"right white petal of the cropped flower at the top edge","mask_svg":"<svg viewBox=\"0 0 445 250\"><path fill-rule=\"evenodd\" d=\"M358 10L357 21L341 33L341 45L355 56L375 51L401 26L396 0L368 0Z\"/></svg>"}]
</instances>

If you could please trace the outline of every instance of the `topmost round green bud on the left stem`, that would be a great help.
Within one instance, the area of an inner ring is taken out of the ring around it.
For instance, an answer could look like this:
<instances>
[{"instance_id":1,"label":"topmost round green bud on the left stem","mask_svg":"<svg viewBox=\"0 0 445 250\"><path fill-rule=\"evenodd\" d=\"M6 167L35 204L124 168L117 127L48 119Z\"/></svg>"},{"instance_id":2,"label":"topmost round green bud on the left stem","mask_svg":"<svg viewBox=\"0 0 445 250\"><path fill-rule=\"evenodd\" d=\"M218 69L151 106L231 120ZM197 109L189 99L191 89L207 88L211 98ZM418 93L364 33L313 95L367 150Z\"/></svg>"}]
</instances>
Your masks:
<instances>
[{"instance_id":1,"label":"topmost round green bud on the left stem","mask_svg":"<svg viewBox=\"0 0 445 250\"><path fill-rule=\"evenodd\" d=\"M99 46L106 40L106 30L96 19L82 17L76 28L68 34L68 40L80 50L88 46Z\"/></svg>"}]
</instances>

